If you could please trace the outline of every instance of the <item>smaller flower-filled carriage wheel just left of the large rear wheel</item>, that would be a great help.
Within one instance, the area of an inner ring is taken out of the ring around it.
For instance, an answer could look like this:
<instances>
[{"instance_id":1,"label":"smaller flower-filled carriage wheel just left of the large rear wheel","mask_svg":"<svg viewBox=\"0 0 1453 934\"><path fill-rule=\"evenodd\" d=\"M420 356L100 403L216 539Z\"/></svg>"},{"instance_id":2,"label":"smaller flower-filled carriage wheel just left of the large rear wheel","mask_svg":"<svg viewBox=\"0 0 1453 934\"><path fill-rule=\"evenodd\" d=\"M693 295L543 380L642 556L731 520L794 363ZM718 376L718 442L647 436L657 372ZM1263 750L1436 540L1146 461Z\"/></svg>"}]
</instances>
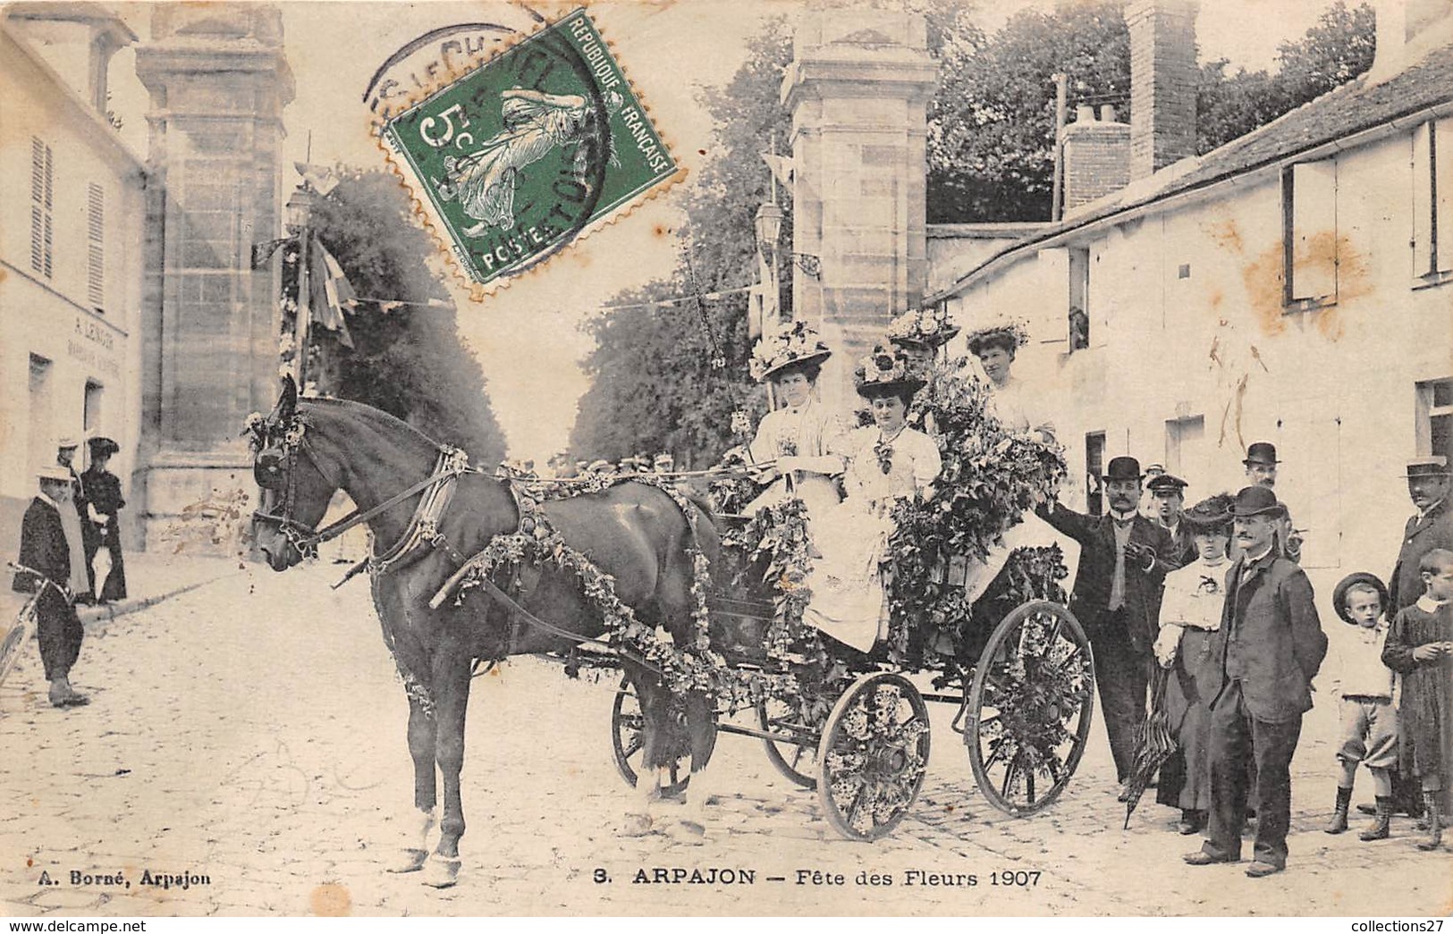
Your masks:
<instances>
[{"instance_id":1,"label":"smaller flower-filled carriage wheel just left of the large rear wheel","mask_svg":"<svg viewBox=\"0 0 1453 934\"><path fill-rule=\"evenodd\" d=\"M891 834L928 767L928 709L905 677L881 671L853 683L822 729L818 800L851 840Z\"/></svg>"}]
</instances>

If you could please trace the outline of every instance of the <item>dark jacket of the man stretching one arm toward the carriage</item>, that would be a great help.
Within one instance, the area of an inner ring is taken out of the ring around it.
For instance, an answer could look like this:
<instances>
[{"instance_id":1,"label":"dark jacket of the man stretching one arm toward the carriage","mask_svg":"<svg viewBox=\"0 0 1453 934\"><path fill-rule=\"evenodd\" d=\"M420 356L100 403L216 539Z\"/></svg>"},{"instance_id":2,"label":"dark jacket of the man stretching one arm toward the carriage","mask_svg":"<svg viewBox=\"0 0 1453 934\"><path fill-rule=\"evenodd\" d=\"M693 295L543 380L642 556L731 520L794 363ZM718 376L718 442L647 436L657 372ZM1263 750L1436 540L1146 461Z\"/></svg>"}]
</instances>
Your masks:
<instances>
[{"instance_id":1,"label":"dark jacket of the man stretching one arm toward the carriage","mask_svg":"<svg viewBox=\"0 0 1453 934\"><path fill-rule=\"evenodd\" d=\"M1080 569L1075 574L1075 591L1069 596L1069 612L1085 628L1100 628L1100 617L1110 607L1114 578L1114 520L1109 514L1075 513L1058 503L1053 508L1040 507L1039 514L1051 526L1080 542ZM1125 564L1125 612L1130 648L1136 652L1149 652L1159 632L1165 572L1174 571L1178 565L1171 558L1174 545L1165 529L1139 514L1132 521L1130 542L1145 545L1157 555L1149 569L1133 559Z\"/></svg>"}]
</instances>

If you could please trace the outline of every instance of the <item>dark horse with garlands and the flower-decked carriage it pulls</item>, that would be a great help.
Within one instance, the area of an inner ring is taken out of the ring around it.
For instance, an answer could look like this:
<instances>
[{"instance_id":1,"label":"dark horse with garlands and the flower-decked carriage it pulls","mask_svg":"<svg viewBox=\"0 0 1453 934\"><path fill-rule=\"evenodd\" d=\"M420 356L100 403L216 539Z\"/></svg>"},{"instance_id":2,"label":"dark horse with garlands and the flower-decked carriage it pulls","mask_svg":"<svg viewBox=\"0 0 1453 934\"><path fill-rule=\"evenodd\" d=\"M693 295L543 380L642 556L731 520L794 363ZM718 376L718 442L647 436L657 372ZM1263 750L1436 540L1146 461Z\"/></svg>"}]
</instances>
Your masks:
<instances>
[{"instance_id":1,"label":"dark horse with garlands and the flower-decked carriage it pulls","mask_svg":"<svg viewBox=\"0 0 1453 934\"><path fill-rule=\"evenodd\" d=\"M1084 751L1088 642L1059 603L1021 598L1033 593L1024 580L1037 578L1043 597L1056 575L1016 572L1010 561L982 594L971 594L952 561L924 577L926 556L942 555L943 543L917 542L931 535L910 513L895 516L911 540L895 555L895 575L915 584L889 601L889 638L856 652L802 625L801 504L718 523L661 478L542 495L378 410L298 399L291 381L246 433L260 488L253 535L273 569L369 527L366 567L408 699L420 812L420 845L400 870L427 869L429 885L453 885L459 872L464 723L481 659L545 654L571 668L607 658L625 673L613 712L618 763L628 780L647 779L638 787L667 773L664 784L683 784L684 757L699 771L718 732L757 736L783 774L817 786L837 829L863 840L892 831L923 786L928 702L958 706L955 729L975 779L1010 813L1053 802ZM339 490L357 508L318 529ZM988 495L981 482L946 491L930 508L978 508ZM915 678L930 675L924 693ZM751 725L740 722L747 712ZM436 825L437 848L426 858Z\"/></svg>"}]
</instances>

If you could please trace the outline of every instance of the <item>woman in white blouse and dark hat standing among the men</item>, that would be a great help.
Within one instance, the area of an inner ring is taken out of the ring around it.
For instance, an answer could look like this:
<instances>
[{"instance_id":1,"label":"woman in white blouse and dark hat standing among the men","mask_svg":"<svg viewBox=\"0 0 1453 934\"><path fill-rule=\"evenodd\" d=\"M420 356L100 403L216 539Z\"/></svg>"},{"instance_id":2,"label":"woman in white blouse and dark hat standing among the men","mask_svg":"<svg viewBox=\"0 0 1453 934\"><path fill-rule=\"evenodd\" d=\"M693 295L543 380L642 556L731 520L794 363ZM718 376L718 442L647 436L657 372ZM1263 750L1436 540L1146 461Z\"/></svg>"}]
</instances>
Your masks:
<instances>
[{"instance_id":1,"label":"woman in white blouse and dark hat standing among the men","mask_svg":"<svg viewBox=\"0 0 1453 934\"><path fill-rule=\"evenodd\" d=\"M1225 606L1231 504L1229 494L1218 494L1181 514L1197 558L1165 575L1161 598L1155 658L1170 668L1165 716L1177 750L1161 766L1155 800L1180 808L1181 834L1205 829L1210 811L1210 699L1221 689L1212 642Z\"/></svg>"}]
</instances>

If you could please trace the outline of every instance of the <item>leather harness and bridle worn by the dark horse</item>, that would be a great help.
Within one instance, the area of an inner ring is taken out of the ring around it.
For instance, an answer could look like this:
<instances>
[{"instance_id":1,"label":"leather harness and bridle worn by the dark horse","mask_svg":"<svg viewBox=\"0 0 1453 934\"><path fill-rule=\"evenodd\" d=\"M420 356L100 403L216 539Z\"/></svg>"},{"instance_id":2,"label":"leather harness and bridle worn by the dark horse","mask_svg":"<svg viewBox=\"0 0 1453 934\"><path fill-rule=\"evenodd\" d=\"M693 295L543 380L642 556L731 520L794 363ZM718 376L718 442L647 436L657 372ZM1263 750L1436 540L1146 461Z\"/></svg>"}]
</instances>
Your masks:
<instances>
[{"instance_id":1,"label":"leather harness and bridle worn by the dark horse","mask_svg":"<svg viewBox=\"0 0 1453 934\"><path fill-rule=\"evenodd\" d=\"M256 479L257 485L263 490L283 491L282 511L264 513L257 510L253 513L253 519L260 523L276 526L304 558L317 558L318 545L339 537L349 529L373 519L420 491L424 491L418 505L414 508L414 516L410 520L408 527L398 537L398 540L394 542L382 555L371 555L366 561L349 571L339 585L349 581L365 567L373 577L381 577L413 564L413 559L423 556L424 549L436 549L448 555L458 567L458 571L450 575L443 587L439 588L439 593L434 594L433 600L430 600L430 609L437 609L448 594L452 593L469 574L475 561L459 553L459 551L439 530L439 524L449 508L449 503L453 500L455 485L459 476L464 474L484 474L484 471L469 466L469 456L465 452L456 447L440 446L434 469L424 479L407 487L401 492L394 494L372 508L355 508L352 513L330 526L315 529L314 526L308 526L292 517L292 508L296 500L296 465L299 453L308 458L308 462L312 463L314 469L318 471L318 474L321 474L331 487L337 488L341 484L337 476L318 463L317 458L308 453L305 423L302 418L294 417L291 423L286 424L280 443L276 444L267 443L272 436L269 429L276 430L275 426L254 427L254 439L260 450L253 460L253 479ZM500 482L514 500L516 532L533 532L536 524L545 521L539 503L533 497L522 495L519 488L510 482L509 478L503 478ZM530 626L542 629L561 639L567 639L578 645L593 645L636 661L651 670L657 670L655 665L649 664L644 658L638 658L634 652L625 651L622 646L602 642L600 639L594 639L578 632L571 632L535 616L520 606L516 597L511 597L487 575L479 575L477 578L477 584L493 601L498 603L506 612L510 613L510 636L506 654L510 654L509 649L513 649L519 638L522 623L529 623Z\"/></svg>"}]
</instances>

